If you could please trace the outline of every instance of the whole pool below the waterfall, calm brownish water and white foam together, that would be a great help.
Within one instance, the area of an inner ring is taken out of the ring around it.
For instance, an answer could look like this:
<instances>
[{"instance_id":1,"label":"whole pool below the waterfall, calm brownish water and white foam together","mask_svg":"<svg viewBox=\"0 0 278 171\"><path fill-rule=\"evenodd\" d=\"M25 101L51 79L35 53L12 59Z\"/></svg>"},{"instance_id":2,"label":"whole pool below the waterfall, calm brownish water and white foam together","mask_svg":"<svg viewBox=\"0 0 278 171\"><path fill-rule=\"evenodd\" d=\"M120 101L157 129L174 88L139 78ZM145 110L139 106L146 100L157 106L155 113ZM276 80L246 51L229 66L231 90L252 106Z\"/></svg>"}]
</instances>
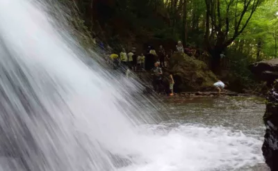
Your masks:
<instances>
[{"instance_id":1,"label":"whole pool below the waterfall, calm brownish water and white foam together","mask_svg":"<svg viewBox=\"0 0 278 171\"><path fill-rule=\"evenodd\" d=\"M268 170L261 152L263 99L161 99L156 106L168 119L140 127L132 164L121 171Z\"/></svg>"}]
</instances>

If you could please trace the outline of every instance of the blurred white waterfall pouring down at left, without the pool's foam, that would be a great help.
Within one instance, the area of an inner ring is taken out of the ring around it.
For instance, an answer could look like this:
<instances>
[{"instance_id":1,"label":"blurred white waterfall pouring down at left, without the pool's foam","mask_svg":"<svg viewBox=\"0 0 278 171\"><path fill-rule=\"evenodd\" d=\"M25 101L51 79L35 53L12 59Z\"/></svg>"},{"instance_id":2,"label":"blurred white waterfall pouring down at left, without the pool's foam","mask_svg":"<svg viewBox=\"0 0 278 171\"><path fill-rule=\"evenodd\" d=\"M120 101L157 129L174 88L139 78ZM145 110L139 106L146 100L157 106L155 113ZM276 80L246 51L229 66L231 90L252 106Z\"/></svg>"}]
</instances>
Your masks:
<instances>
[{"instance_id":1,"label":"blurred white waterfall pouring down at left, without the pool's foam","mask_svg":"<svg viewBox=\"0 0 278 171\"><path fill-rule=\"evenodd\" d=\"M120 81L97 55L86 65L43 5L0 2L1 152L26 170L113 170L109 150L133 136L134 124L152 119L131 122L126 113L140 111Z\"/></svg>"}]
</instances>

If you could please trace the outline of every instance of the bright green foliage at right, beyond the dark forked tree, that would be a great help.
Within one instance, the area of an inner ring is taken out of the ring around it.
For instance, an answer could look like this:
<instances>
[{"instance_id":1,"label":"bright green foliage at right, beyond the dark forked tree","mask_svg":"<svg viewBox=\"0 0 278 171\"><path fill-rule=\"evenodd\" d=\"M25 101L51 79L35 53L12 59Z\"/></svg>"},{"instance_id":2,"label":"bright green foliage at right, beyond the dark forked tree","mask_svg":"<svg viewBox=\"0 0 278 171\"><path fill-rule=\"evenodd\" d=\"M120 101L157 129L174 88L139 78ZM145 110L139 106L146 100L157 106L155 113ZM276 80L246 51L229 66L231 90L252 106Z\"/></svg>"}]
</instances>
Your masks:
<instances>
[{"instance_id":1,"label":"bright green foliage at right, beyond the dark forked tree","mask_svg":"<svg viewBox=\"0 0 278 171\"><path fill-rule=\"evenodd\" d=\"M277 44L275 45L275 39L278 40L277 12L277 1L265 1L258 8L247 29L245 29L246 36L241 38L248 41L248 49L254 49L252 56L253 58L258 58L257 60L277 57ZM256 45L259 39L262 42L261 47L259 47L261 54L257 56L258 47Z\"/></svg>"}]
</instances>

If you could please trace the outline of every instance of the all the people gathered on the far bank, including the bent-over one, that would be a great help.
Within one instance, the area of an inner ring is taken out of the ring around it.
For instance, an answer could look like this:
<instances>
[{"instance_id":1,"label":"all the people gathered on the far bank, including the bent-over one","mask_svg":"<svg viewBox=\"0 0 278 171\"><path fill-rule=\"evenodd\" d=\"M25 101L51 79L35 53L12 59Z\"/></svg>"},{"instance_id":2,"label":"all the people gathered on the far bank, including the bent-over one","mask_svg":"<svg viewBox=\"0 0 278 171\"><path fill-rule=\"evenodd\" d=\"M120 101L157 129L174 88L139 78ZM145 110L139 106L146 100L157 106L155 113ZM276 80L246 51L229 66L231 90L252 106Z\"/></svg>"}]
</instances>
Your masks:
<instances>
[{"instance_id":1,"label":"all the people gathered on the far bank, including the bent-over one","mask_svg":"<svg viewBox=\"0 0 278 171\"><path fill-rule=\"evenodd\" d=\"M183 48L183 44L181 41L177 42L176 52L185 53L188 56L197 57L200 54L200 51L192 48L186 47ZM165 75L163 77L163 68L167 67L167 63L169 62L169 57L171 54L167 54L162 45L159 46L158 51L154 49L154 47L147 47L146 53L138 54L136 52L136 48L132 48L129 53L126 53L126 49L122 49L120 52L120 56L117 54L111 54L111 61L113 64L113 68L117 69L117 67L121 65L126 66L128 69L126 73L129 73L131 70L147 70L152 72L153 77L153 86L156 92L161 92L161 87L163 87L163 79L167 79L170 96L174 95L174 79L172 74L167 74L167 78ZM126 74L129 75L129 74ZM218 92L220 93L224 89L224 83L222 81L218 81L213 85ZM164 88L165 90L165 88Z\"/></svg>"}]
</instances>

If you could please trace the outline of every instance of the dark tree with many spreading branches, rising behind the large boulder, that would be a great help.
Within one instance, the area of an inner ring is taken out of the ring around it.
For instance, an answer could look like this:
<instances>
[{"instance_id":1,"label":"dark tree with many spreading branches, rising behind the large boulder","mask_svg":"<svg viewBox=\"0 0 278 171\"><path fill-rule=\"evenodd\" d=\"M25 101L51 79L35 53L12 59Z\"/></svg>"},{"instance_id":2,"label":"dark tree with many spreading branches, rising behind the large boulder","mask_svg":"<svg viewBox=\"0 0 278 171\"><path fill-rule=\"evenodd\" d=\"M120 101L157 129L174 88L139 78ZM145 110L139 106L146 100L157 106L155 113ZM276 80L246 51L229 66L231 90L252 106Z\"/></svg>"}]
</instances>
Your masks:
<instances>
[{"instance_id":1,"label":"dark tree with many spreading branches, rising behind the large boulder","mask_svg":"<svg viewBox=\"0 0 278 171\"><path fill-rule=\"evenodd\" d=\"M220 54L250 22L261 0L205 0L206 33L204 42L208 53L213 56L212 69L220 71ZM232 14L232 15L231 15ZM234 26L233 26L234 24Z\"/></svg>"}]
</instances>

